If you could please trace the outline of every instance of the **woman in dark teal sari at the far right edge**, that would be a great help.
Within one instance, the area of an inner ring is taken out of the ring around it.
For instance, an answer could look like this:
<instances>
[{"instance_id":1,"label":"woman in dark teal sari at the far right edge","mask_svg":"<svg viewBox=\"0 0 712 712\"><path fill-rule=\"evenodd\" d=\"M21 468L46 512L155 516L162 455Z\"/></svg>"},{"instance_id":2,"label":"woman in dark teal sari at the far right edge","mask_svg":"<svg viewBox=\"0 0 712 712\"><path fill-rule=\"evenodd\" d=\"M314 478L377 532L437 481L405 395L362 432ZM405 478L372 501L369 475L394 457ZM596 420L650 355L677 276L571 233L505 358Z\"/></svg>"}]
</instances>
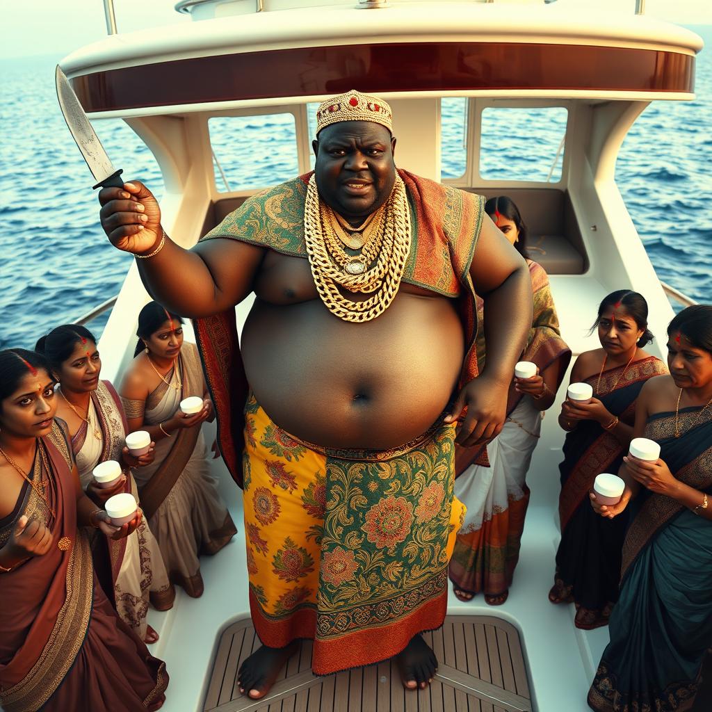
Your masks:
<instances>
[{"instance_id":1,"label":"woman in dark teal sari at the far right edge","mask_svg":"<svg viewBox=\"0 0 712 712\"><path fill-rule=\"evenodd\" d=\"M621 501L591 503L606 521L630 511L618 603L588 703L599 712L684 712L712 642L712 306L668 327L669 376L642 389L635 435L660 458L629 455Z\"/></svg>"}]
</instances>

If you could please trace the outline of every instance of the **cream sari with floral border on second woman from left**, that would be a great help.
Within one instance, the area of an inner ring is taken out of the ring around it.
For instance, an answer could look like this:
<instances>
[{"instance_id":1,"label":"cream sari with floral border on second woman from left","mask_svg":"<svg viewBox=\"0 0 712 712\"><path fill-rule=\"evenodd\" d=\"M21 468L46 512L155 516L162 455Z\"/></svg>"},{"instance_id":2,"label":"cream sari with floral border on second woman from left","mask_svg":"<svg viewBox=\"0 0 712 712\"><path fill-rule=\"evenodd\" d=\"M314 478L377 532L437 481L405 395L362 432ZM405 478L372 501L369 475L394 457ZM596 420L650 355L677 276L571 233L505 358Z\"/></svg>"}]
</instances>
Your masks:
<instances>
[{"instance_id":1,"label":"cream sari with floral border on second woman from left","mask_svg":"<svg viewBox=\"0 0 712 712\"><path fill-rule=\"evenodd\" d=\"M72 438L79 478L86 489L92 481L92 472L100 462L121 461L125 444L127 424L118 394L108 381L100 381L92 392L88 419L98 425L102 439L90 434L83 423ZM125 468L124 491L139 501L138 490L130 469ZM91 533L95 533L91 530ZM107 561L110 565L111 585L107 596L115 605L122 620L145 639L146 615L149 600L159 610L173 605L175 590L168 580L166 567L158 543L153 536L147 518L142 518L135 532L118 541L96 535L93 544L95 569L102 570Z\"/></svg>"}]
</instances>

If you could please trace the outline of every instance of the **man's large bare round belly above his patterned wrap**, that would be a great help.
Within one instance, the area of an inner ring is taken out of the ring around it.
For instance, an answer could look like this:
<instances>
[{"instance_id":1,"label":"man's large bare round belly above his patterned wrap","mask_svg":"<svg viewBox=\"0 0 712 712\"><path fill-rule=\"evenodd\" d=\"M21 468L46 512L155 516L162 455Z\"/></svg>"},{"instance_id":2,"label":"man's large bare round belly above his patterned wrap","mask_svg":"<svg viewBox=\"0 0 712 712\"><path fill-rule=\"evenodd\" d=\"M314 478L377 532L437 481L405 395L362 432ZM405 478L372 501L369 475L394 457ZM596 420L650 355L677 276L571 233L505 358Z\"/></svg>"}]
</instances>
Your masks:
<instances>
[{"instance_id":1,"label":"man's large bare round belly above his patterned wrap","mask_svg":"<svg viewBox=\"0 0 712 712\"><path fill-rule=\"evenodd\" d=\"M318 300L256 300L241 350L256 399L281 428L323 447L381 450L439 417L464 339L453 300L401 292L365 324L337 319Z\"/></svg>"}]
</instances>

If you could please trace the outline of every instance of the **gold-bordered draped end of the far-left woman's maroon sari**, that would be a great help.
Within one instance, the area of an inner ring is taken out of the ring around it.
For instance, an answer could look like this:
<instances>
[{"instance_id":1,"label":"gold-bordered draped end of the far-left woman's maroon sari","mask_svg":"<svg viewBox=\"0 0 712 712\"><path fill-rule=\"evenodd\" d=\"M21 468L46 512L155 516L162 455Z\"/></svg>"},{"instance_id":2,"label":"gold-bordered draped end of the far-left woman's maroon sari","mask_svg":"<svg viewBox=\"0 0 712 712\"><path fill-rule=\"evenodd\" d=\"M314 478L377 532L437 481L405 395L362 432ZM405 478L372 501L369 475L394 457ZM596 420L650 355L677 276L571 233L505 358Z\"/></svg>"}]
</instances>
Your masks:
<instances>
[{"instance_id":1,"label":"gold-bordered draped end of the far-left woman's maroon sari","mask_svg":"<svg viewBox=\"0 0 712 712\"><path fill-rule=\"evenodd\" d=\"M72 466L68 437L55 421L38 443L33 478L47 483L56 518L25 486L11 521L0 528L0 543L23 514L40 518L52 530L48 553L1 575L0 706L6 712L46 703L68 674L88 629L93 570L88 542L77 530Z\"/></svg>"}]
</instances>

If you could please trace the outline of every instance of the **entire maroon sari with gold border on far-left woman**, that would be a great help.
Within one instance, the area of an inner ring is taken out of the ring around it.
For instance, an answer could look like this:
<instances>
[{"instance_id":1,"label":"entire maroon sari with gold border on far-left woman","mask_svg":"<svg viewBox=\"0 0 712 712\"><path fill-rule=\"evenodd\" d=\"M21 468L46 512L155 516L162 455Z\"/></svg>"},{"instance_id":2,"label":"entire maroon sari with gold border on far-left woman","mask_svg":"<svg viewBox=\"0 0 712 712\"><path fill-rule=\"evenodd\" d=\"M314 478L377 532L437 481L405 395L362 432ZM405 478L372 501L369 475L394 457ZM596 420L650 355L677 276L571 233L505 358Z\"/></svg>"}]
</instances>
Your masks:
<instances>
[{"instance_id":1,"label":"entire maroon sari with gold border on far-left woman","mask_svg":"<svg viewBox=\"0 0 712 712\"><path fill-rule=\"evenodd\" d=\"M155 709L168 684L164 664L116 617L95 585L88 541L76 526L68 439L58 422L40 439L33 479L53 517L23 486L0 521L0 545L21 515L40 518L51 548L0 575L0 703L5 712L140 712Z\"/></svg>"}]
</instances>

